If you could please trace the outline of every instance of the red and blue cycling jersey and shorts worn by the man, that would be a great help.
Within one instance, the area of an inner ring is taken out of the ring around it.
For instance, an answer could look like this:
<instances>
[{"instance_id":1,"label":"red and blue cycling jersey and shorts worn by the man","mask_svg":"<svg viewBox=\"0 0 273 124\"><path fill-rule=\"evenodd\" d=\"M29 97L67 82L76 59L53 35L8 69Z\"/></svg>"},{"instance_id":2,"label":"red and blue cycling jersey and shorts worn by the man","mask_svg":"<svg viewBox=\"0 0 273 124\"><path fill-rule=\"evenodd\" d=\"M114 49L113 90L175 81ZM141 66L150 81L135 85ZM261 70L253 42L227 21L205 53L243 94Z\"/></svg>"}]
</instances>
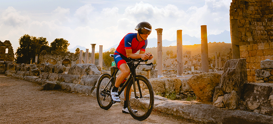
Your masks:
<instances>
[{"instance_id":1,"label":"red and blue cycling jersey and shorts worn by the man","mask_svg":"<svg viewBox=\"0 0 273 124\"><path fill-rule=\"evenodd\" d=\"M139 42L136 38L137 33L128 33L120 41L120 44L116 48L116 51L114 53L114 60L118 68L120 68L121 64L126 63L126 61L122 57L120 57L120 54L127 57L126 50L132 49L132 53L136 53L138 50L145 52L148 40L142 40Z\"/></svg>"}]
</instances>

